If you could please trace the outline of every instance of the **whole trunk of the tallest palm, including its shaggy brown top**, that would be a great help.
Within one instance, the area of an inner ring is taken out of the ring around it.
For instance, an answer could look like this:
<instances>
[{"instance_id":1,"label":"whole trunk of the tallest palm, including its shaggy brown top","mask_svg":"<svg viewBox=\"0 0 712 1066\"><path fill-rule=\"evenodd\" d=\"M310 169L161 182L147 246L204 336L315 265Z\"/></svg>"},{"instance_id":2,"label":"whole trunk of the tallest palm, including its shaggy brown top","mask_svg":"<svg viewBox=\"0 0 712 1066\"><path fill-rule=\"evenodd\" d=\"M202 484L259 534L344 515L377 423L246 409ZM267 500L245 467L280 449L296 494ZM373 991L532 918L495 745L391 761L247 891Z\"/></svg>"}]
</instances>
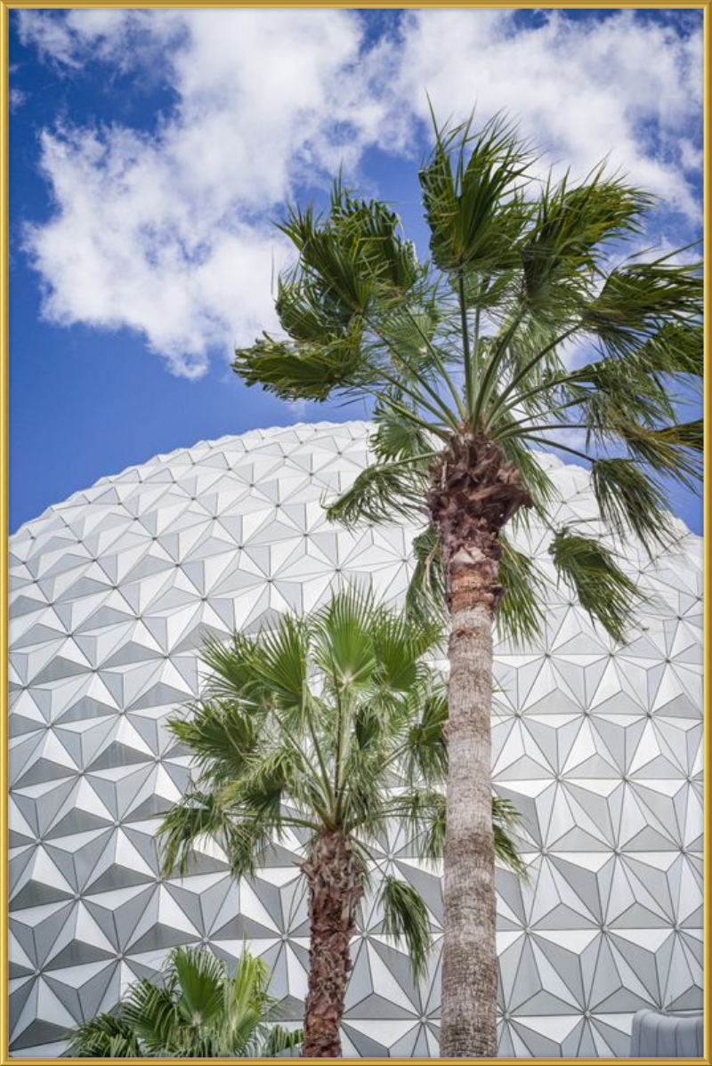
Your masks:
<instances>
[{"instance_id":1,"label":"whole trunk of the tallest palm, including its shaggy brown top","mask_svg":"<svg viewBox=\"0 0 712 1066\"><path fill-rule=\"evenodd\" d=\"M497 1054L497 901L491 820L492 621L498 534L531 500L496 445L453 438L431 470L451 616L442 1019L448 1059Z\"/></svg>"}]
</instances>

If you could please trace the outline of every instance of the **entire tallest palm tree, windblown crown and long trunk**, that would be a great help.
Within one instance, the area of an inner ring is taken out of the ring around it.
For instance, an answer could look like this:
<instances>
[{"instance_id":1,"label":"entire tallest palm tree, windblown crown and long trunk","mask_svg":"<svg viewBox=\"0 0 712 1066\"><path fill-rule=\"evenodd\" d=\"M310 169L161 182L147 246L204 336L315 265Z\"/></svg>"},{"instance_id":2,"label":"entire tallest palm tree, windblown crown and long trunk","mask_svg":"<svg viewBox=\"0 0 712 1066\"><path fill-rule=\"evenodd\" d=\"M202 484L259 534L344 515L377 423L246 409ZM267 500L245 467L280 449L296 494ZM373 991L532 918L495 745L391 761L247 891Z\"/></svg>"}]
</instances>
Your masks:
<instances>
[{"instance_id":1,"label":"entire tallest palm tree, windblown crown and long trunk","mask_svg":"<svg viewBox=\"0 0 712 1066\"><path fill-rule=\"evenodd\" d=\"M697 475L701 422L677 411L701 375L701 280L673 255L624 258L642 243L651 196L603 166L582 181L541 179L502 117L436 128L419 176L427 262L387 205L340 182L324 214L289 210L285 336L239 350L233 369L287 400L372 401L375 462L329 513L426 521L412 605L434 594L450 613L441 1052L492 1055L492 625L532 636L544 591L503 530L533 511L560 580L622 639L636 589L615 538L665 543L661 479ZM555 524L530 445L590 464L613 539Z\"/></svg>"}]
</instances>

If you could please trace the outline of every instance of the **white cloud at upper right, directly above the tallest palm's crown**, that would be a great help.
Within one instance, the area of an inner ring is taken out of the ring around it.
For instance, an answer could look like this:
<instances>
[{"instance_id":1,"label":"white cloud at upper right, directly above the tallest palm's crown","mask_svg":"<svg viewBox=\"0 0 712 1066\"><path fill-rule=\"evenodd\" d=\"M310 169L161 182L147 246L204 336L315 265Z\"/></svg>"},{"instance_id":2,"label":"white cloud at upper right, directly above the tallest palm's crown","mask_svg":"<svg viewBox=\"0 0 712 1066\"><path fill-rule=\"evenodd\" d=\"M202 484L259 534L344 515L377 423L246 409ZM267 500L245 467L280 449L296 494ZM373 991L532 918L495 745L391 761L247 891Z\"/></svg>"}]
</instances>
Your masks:
<instances>
[{"instance_id":1,"label":"white cloud at upper right, directly above the tallest palm's crown","mask_svg":"<svg viewBox=\"0 0 712 1066\"><path fill-rule=\"evenodd\" d=\"M423 85L437 114L463 117L473 101L485 116L504 109L575 174L608 157L669 205L698 214L680 173L681 152L683 166L689 158L680 136L691 122L701 134L701 33L683 39L633 13L582 22L552 12L529 29L517 29L513 11L468 15L406 15L395 92L423 117Z\"/></svg>"}]
</instances>

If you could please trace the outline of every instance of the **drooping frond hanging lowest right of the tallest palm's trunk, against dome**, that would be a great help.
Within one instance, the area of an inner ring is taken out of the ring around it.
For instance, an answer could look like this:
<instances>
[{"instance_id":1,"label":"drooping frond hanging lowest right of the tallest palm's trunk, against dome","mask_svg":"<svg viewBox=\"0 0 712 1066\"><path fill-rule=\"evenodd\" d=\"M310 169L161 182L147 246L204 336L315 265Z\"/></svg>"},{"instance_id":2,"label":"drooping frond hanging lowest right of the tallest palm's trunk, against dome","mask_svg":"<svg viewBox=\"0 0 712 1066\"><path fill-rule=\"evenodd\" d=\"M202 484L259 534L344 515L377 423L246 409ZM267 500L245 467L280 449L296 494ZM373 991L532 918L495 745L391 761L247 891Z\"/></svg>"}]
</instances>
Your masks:
<instances>
[{"instance_id":1,"label":"drooping frond hanging lowest right of the tallest palm's trunk, against dome","mask_svg":"<svg viewBox=\"0 0 712 1066\"><path fill-rule=\"evenodd\" d=\"M557 530L549 548L554 566L582 608L622 641L642 599L636 583L618 566L614 553L595 537L568 527Z\"/></svg>"}]
</instances>

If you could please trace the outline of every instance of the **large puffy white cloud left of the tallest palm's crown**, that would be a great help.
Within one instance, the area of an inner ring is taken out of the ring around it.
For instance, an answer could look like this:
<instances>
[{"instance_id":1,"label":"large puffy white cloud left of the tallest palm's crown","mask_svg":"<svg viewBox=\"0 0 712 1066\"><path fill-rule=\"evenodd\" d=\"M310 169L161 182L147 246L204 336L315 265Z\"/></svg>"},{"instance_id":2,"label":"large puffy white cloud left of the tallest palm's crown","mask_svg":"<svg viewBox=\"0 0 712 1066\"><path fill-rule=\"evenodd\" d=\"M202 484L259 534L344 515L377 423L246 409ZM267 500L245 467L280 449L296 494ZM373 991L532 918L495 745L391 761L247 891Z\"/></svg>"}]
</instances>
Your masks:
<instances>
[{"instance_id":1,"label":"large puffy white cloud left of the tallest palm's crown","mask_svg":"<svg viewBox=\"0 0 712 1066\"><path fill-rule=\"evenodd\" d=\"M27 245L53 321L142 332L176 373L198 375L274 322L271 276L286 242L268 214L295 179L360 155L378 114L350 120L342 96L360 27L347 12L127 13L59 23L31 14L46 52L75 67L91 49L126 59L169 42L175 114L148 136L123 126L42 136L55 211ZM358 79L358 74L354 72ZM347 128L344 124L347 123Z\"/></svg>"}]
</instances>

